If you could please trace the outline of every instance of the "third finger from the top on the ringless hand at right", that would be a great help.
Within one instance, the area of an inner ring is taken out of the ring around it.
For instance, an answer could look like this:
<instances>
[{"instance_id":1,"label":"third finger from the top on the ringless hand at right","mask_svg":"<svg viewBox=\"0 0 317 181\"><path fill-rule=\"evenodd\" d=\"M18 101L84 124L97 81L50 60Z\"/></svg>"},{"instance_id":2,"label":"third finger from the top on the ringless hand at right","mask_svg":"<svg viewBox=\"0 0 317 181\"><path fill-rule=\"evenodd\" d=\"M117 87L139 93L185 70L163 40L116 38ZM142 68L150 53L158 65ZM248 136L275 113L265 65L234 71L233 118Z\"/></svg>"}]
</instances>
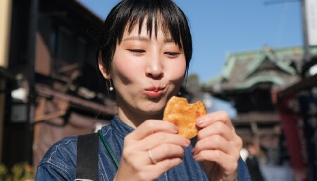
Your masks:
<instances>
[{"instance_id":1,"label":"third finger from the top on the ringless hand at right","mask_svg":"<svg viewBox=\"0 0 317 181\"><path fill-rule=\"evenodd\" d=\"M220 135L213 135L199 140L194 149L192 149L192 154L196 155L203 150L220 150L228 155L239 152L234 146L232 146L232 144L230 144L230 142L228 142L228 140Z\"/></svg>"}]
</instances>

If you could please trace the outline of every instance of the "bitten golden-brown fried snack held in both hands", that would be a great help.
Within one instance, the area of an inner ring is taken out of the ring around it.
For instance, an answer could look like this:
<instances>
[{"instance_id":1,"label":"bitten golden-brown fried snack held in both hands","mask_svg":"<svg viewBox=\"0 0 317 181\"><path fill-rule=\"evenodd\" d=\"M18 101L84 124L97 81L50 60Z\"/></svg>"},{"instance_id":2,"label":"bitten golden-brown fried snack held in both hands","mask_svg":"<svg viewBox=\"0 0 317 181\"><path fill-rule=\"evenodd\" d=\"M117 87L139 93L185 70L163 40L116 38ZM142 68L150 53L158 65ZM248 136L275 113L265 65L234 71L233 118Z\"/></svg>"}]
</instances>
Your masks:
<instances>
[{"instance_id":1,"label":"bitten golden-brown fried snack held in both hands","mask_svg":"<svg viewBox=\"0 0 317 181\"><path fill-rule=\"evenodd\" d=\"M201 101L189 104L187 99L173 96L166 104L163 120L178 125L178 134L190 139L197 135L196 121L206 113L206 108Z\"/></svg>"}]
</instances>

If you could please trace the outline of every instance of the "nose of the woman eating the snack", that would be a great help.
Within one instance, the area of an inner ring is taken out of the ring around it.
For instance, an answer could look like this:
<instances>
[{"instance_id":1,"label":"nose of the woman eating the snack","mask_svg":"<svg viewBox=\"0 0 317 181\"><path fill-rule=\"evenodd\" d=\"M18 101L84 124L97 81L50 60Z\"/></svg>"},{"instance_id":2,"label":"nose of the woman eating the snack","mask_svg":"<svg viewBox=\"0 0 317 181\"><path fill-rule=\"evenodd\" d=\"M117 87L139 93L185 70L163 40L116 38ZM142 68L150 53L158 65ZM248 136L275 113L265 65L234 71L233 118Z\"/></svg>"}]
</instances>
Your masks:
<instances>
[{"instance_id":1,"label":"nose of the woman eating the snack","mask_svg":"<svg viewBox=\"0 0 317 181\"><path fill-rule=\"evenodd\" d=\"M148 59L147 68L145 70L146 76L154 79L163 77L163 66L161 58L157 55L150 56Z\"/></svg>"}]
</instances>

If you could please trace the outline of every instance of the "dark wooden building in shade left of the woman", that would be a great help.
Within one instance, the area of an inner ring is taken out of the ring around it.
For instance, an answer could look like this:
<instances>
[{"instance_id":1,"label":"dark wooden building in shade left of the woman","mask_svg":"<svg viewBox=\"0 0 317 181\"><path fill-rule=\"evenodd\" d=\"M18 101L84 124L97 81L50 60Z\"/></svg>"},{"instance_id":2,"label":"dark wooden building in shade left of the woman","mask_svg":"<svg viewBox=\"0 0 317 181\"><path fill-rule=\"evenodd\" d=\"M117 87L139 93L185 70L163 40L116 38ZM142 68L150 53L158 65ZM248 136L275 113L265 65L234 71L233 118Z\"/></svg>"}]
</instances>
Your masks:
<instances>
[{"instance_id":1,"label":"dark wooden building in shade left of the woman","mask_svg":"<svg viewBox=\"0 0 317 181\"><path fill-rule=\"evenodd\" d=\"M1 90L1 162L8 166L37 166L51 144L92 132L116 113L97 68L103 20L75 0L34 2L11 1L8 65L0 69L16 85Z\"/></svg>"}]
</instances>

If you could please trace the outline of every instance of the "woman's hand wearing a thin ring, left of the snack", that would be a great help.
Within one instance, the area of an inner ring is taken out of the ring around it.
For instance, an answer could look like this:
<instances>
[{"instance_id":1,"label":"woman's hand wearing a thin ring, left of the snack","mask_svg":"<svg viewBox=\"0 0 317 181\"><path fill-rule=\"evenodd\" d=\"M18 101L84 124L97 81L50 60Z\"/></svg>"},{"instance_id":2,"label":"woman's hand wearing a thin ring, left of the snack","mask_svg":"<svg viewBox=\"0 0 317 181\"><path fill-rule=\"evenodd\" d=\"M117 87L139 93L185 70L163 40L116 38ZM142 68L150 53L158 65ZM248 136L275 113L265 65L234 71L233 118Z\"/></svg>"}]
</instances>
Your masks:
<instances>
[{"instance_id":1,"label":"woman's hand wearing a thin ring, left of the snack","mask_svg":"<svg viewBox=\"0 0 317 181\"><path fill-rule=\"evenodd\" d=\"M163 120L146 120L125 137L116 181L155 180L182 163L183 147L189 139L178 135L178 127ZM149 157L149 150L151 161ZM156 163L154 163L156 162Z\"/></svg>"}]
</instances>

